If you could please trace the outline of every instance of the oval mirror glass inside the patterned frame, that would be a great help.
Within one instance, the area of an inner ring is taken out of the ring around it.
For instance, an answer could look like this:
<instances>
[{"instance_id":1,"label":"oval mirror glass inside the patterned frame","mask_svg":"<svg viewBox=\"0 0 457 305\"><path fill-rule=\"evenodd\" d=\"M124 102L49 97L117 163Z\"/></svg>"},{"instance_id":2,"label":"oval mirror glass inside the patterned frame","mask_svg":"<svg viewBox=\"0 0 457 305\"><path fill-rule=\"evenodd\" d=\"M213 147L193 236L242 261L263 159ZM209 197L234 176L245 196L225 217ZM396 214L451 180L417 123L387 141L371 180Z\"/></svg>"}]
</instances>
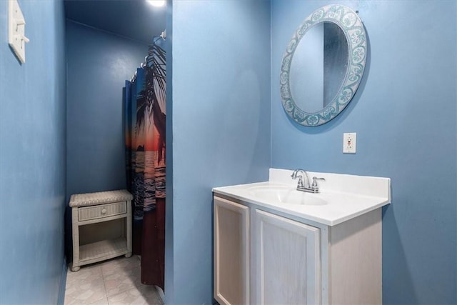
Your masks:
<instances>
[{"instance_id":1,"label":"oval mirror glass inside the patterned frame","mask_svg":"<svg viewBox=\"0 0 457 305\"><path fill-rule=\"evenodd\" d=\"M326 107L343 84L348 67L348 41L333 22L313 25L298 44L291 62L291 94L300 109L313 113Z\"/></svg>"}]
</instances>

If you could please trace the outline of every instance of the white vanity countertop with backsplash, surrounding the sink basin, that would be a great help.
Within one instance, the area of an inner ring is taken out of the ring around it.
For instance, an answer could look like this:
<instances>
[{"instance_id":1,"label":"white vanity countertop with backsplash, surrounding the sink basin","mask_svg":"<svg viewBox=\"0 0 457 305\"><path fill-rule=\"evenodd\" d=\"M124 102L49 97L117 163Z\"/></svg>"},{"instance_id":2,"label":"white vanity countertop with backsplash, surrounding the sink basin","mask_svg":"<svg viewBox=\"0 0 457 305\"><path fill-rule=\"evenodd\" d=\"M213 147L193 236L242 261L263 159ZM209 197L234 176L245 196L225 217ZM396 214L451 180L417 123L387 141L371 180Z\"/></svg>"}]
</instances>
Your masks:
<instances>
[{"instance_id":1,"label":"white vanity countertop with backsplash, surrounding the sink basin","mask_svg":"<svg viewBox=\"0 0 457 305\"><path fill-rule=\"evenodd\" d=\"M388 178L316 172L308 172L309 178L323 177L326 181L319 181L320 193L311 196L323 199L327 204L279 204L252 194L252 188L259 186L295 189L297 181L291 179L291 173L290 170L270 169L269 181L216 187L213 191L214 194L230 196L328 226L341 224L391 203L391 180Z\"/></svg>"}]
</instances>

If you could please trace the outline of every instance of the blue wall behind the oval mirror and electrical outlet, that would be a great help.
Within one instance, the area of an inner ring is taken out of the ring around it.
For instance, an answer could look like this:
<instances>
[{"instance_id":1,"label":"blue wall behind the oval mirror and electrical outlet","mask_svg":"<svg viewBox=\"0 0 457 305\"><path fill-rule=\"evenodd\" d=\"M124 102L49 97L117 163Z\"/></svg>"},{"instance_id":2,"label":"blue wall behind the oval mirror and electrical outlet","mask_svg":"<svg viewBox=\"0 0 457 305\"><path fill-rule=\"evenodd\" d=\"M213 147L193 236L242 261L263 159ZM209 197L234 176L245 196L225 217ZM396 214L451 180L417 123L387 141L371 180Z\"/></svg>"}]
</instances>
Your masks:
<instances>
[{"instance_id":1,"label":"blue wall behind the oval mirror and electrical outlet","mask_svg":"<svg viewBox=\"0 0 457 305\"><path fill-rule=\"evenodd\" d=\"M366 74L340 116L298 126L281 106L283 51L330 3L272 1L271 165L390 177L383 303L456 304L457 2L346 2L368 34ZM357 154L342 154L343 132L357 132Z\"/></svg>"}]
</instances>

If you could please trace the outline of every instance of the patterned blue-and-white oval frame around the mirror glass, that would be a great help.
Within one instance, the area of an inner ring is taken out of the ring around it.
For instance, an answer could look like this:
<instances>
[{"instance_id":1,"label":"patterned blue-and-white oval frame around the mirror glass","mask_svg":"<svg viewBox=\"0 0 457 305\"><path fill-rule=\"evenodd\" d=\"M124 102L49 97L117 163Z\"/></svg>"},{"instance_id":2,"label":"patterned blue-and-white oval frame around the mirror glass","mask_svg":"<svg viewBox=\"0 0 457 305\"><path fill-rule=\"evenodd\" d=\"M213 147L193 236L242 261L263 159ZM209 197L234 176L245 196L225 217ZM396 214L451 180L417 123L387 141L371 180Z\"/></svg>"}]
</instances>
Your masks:
<instances>
[{"instance_id":1,"label":"patterned blue-and-white oval frame around the mirror glass","mask_svg":"<svg viewBox=\"0 0 457 305\"><path fill-rule=\"evenodd\" d=\"M311 26L320 22L337 24L346 36L348 42L348 66L343 83L336 96L326 107L314 113L300 109L291 94L290 71L293 54L303 36ZM288 116L303 126L319 126L335 118L353 98L363 76L367 54L366 32L357 13L347 6L327 5L314 11L295 31L288 43L281 64L281 99Z\"/></svg>"}]
</instances>

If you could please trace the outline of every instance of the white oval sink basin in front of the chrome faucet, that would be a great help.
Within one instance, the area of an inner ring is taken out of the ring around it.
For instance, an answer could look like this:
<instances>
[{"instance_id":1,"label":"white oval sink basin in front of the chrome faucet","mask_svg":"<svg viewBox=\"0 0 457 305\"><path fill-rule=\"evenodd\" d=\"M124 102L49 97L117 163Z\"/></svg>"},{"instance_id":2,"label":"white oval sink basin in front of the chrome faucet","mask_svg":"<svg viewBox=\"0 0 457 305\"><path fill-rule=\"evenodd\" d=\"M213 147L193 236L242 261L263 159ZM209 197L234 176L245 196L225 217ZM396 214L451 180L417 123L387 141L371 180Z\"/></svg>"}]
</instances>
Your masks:
<instances>
[{"instance_id":1,"label":"white oval sink basin in front of the chrome faucet","mask_svg":"<svg viewBox=\"0 0 457 305\"><path fill-rule=\"evenodd\" d=\"M253 186L248 189L251 196L277 204L301 204L306 206L323 206L327 201L319 194L297 191L290 186Z\"/></svg>"}]
</instances>

